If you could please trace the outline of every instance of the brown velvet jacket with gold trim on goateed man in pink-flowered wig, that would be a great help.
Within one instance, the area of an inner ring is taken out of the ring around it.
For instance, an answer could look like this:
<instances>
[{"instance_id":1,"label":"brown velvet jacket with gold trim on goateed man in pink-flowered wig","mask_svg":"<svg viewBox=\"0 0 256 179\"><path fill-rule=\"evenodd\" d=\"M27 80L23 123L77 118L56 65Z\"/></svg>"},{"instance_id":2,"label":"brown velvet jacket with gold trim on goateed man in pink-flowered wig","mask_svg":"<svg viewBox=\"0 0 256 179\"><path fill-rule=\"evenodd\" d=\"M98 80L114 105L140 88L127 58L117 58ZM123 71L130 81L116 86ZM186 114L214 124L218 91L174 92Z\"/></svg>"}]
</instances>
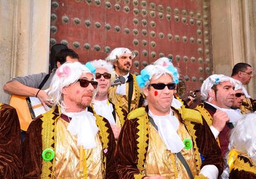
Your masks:
<instances>
[{"instance_id":1,"label":"brown velvet jacket with gold trim on goateed man in pink-flowered wig","mask_svg":"<svg viewBox=\"0 0 256 179\"><path fill-rule=\"evenodd\" d=\"M92 112L92 109L88 108ZM24 164L23 178L54 178L56 158L45 161L42 153L45 149L56 152L56 122L61 119L60 108L52 108L47 113L37 117L29 125L26 138L22 144L22 160ZM115 152L115 137L106 118L95 115L99 128L99 140L102 144L102 178L118 178L116 164L113 159ZM63 157L65 160L65 157ZM88 161L87 161L88 162ZM85 168L86 169L86 168ZM76 172L76 171L74 171ZM83 176L83 178L87 178ZM101 178L99 178L101 179Z\"/></svg>"}]
</instances>

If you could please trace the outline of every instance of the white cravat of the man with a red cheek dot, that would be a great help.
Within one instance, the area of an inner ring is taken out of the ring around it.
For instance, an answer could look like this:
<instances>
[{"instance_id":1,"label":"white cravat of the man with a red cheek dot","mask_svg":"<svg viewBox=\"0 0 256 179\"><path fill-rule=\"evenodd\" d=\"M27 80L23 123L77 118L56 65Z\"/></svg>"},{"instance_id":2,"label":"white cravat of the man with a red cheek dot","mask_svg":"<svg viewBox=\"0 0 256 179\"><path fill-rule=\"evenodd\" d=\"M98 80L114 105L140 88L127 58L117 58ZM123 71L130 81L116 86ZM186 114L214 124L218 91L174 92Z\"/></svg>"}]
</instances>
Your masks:
<instances>
[{"instance_id":1,"label":"white cravat of the man with a red cheek dot","mask_svg":"<svg viewBox=\"0 0 256 179\"><path fill-rule=\"evenodd\" d=\"M164 144L172 153L178 153L184 148L184 143L180 139L177 130L179 129L179 120L172 114L172 110L168 115L157 116L148 110L148 115L153 118L157 125L159 135Z\"/></svg>"}]
</instances>

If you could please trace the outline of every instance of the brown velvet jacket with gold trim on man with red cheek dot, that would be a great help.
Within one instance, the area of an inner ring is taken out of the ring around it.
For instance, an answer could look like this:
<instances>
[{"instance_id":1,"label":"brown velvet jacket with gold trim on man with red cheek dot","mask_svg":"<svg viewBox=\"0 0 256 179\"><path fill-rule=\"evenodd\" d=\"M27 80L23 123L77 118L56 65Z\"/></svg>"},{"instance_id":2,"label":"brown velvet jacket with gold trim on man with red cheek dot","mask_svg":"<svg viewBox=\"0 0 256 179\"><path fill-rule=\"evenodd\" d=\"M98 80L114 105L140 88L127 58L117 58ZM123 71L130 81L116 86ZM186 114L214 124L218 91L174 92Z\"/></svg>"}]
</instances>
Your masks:
<instances>
[{"instance_id":1,"label":"brown velvet jacket with gold trim on man with red cheek dot","mask_svg":"<svg viewBox=\"0 0 256 179\"><path fill-rule=\"evenodd\" d=\"M198 175L200 169L212 164L219 169L219 175L223 171L223 159L221 158L220 147L212 135L209 126L202 119L200 113L195 110L183 108L175 110L175 115L179 118L181 124L184 124L186 133L188 132L193 142L193 156L195 158L195 178L204 178ZM149 141L150 124L148 120L148 108L138 108L128 115L116 147L116 164L117 173L120 178L133 179L143 178L147 176L147 160L148 145L154 141ZM150 150L150 149L149 149ZM204 157L204 162L201 161L200 155ZM187 162L191 162L189 157L185 157ZM156 162L161 162L156 161ZM154 166L151 166L153 168ZM157 167L157 164L156 164ZM174 170L177 168L174 168Z\"/></svg>"}]
</instances>

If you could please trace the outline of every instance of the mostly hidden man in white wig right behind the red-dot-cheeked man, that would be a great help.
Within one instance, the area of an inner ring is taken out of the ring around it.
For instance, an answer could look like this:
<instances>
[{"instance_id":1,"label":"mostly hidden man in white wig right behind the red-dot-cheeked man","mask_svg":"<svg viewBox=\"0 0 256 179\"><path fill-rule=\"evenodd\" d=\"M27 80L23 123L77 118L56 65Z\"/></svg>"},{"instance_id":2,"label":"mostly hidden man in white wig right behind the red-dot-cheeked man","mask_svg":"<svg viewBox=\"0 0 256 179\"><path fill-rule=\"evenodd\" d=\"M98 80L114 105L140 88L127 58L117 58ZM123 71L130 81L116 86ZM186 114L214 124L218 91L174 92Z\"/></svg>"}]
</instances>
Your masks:
<instances>
[{"instance_id":1,"label":"mostly hidden man in white wig right behind the red-dot-cheeked man","mask_svg":"<svg viewBox=\"0 0 256 179\"><path fill-rule=\"evenodd\" d=\"M177 90L177 83L179 83L179 71L177 68L173 66L172 59L168 59L166 57L161 57L157 59L153 64L164 66L165 68L168 68L169 66L172 67L172 72L175 77L175 83L176 83L176 90ZM170 67L169 67L170 68ZM194 98L192 96L187 96L187 100L180 99L180 97L177 95L177 91L175 92L175 95L173 97L172 106L174 108L181 108L181 107L189 107L193 103Z\"/></svg>"}]
</instances>

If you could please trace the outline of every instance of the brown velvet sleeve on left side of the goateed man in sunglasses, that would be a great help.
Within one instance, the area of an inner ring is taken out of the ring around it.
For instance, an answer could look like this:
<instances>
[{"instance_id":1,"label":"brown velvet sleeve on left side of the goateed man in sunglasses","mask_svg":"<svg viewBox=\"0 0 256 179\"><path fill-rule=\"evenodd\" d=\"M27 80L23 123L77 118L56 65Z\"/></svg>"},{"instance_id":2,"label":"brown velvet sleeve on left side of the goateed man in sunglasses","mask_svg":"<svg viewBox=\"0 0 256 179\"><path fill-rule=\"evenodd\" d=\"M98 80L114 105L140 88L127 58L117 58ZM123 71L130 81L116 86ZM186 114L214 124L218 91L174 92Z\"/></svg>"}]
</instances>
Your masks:
<instances>
[{"instance_id":1,"label":"brown velvet sleeve on left side of the goateed man in sunglasses","mask_svg":"<svg viewBox=\"0 0 256 179\"><path fill-rule=\"evenodd\" d=\"M22 143L23 177L40 178L42 173L42 120L36 118L29 125Z\"/></svg>"}]
</instances>

